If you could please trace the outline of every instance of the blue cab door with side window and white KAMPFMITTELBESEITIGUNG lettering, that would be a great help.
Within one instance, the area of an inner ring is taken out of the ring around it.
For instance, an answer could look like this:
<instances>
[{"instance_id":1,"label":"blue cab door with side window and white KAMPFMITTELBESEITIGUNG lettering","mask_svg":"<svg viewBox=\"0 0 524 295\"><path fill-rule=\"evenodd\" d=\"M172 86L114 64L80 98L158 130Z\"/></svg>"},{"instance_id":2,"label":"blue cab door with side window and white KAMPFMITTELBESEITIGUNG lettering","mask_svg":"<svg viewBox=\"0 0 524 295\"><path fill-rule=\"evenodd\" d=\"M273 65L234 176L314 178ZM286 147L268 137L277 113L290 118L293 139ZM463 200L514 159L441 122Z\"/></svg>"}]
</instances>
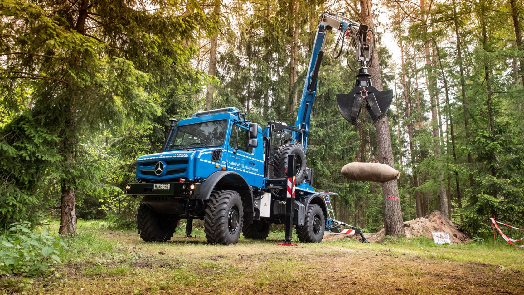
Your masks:
<instances>
[{"instance_id":1,"label":"blue cab door with side window and white KAMPFMITTELBESEITIGUNG lettering","mask_svg":"<svg viewBox=\"0 0 524 295\"><path fill-rule=\"evenodd\" d=\"M242 175L249 185L254 185L255 176L260 173L256 165L253 148L248 147L249 130L233 124L227 147L227 169Z\"/></svg>"}]
</instances>

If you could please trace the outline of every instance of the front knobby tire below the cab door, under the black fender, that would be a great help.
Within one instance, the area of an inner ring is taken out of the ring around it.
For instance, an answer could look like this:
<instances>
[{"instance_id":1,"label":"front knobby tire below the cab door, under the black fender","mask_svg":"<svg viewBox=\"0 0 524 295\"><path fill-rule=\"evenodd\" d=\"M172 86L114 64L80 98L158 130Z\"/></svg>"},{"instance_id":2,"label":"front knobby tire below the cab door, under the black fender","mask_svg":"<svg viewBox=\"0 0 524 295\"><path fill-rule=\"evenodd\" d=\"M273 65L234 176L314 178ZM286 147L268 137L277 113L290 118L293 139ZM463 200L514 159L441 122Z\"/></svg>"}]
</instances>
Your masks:
<instances>
[{"instance_id":1,"label":"front knobby tire below the cab door, under the black fender","mask_svg":"<svg viewBox=\"0 0 524 295\"><path fill-rule=\"evenodd\" d=\"M236 244L242 231L244 207L235 191L213 191L204 212L204 233L210 244Z\"/></svg>"}]
</instances>

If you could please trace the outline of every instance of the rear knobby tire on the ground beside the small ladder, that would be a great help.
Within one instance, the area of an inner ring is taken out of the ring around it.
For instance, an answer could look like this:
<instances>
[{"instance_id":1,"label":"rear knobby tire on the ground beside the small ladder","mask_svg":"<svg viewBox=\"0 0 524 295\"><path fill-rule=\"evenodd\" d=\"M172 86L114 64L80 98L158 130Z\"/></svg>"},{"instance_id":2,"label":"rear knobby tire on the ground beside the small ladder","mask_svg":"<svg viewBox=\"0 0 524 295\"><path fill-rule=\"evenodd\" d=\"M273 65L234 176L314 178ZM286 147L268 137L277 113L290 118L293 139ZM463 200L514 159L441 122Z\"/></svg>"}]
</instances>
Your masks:
<instances>
[{"instance_id":1,"label":"rear knobby tire on the ground beside the small ladder","mask_svg":"<svg viewBox=\"0 0 524 295\"><path fill-rule=\"evenodd\" d=\"M305 213L304 225L296 227L297 236L302 243L320 243L325 230L324 212L319 205L310 204Z\"/></svg>"}]
</instances>

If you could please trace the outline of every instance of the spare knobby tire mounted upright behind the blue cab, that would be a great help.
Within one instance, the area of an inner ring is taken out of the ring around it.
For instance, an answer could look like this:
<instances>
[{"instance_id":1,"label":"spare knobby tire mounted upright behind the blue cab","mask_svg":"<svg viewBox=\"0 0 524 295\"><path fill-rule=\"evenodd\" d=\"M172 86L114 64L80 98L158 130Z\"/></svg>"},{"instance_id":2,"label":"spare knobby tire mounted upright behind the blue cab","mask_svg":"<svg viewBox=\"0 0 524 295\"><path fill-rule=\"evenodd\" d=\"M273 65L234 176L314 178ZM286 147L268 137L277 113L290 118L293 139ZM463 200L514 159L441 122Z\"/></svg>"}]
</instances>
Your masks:
<instances>
[{"instance_id":1,"label":"spare knobby tire mounted upright behind the blue cab","mask_svg":"<svg viewBox=\"0 0 524 295\"><path fill-rule=\"evenodd\" d=\"M290 143L279 146L275 152L275 157L273 159L273 166L275 167L275 177L277 178L286 178L287 177L287 168L288 168L288 156L295 155L295 168L297 171L297 176L295 177L295 182L299 185L305 178L305 153L298 144Z\"/></svg>"}]
</instances>

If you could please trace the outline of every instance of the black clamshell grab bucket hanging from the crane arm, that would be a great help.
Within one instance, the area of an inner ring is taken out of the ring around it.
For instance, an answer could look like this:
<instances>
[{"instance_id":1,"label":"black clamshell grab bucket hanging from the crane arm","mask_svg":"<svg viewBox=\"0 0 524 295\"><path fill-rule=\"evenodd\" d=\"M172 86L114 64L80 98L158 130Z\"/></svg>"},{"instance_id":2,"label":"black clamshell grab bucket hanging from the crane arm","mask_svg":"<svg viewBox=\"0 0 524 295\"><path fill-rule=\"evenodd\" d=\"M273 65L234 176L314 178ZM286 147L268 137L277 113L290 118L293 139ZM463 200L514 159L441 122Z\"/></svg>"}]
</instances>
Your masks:
<instances>
[{"instance_id":1,"label":"black clamshell grab bucket hanging from the crane arm","mask_svg":"<svg viewBox=\"0 0 524 295\"><path fill-rule=\"evenodd\" d=\"M358 126L358 117L362 104L365 102L367 112L373 119L373 124L380 121L388 113L393 90L378 91L371 83L371 75L367 68L359 68L355 80L355 88L347 94L336 94L339 111L347 121Z\"/></svg>"}]
</instances>

